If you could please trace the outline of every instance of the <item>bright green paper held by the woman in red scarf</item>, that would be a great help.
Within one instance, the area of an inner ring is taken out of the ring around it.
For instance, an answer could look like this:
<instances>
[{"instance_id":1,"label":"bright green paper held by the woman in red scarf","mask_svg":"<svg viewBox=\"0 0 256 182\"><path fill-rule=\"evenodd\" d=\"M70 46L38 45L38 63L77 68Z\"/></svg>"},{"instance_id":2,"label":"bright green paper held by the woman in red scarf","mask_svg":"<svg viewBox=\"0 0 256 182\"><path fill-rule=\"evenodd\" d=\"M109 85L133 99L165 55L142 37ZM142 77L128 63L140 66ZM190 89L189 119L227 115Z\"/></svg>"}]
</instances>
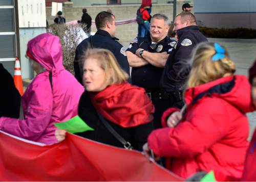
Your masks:
<instances>
[{"instance_id":1,"label":"bright green paper held by the woman in red scarf","mask_svg":"<svg viewBox=\"0 0 256 182\"><path fill-rule=\"evenodd\" d=\"M64 129L72 134L94 130L88 126L79 116L75 116L65 122L54 123L54 125L59 129Z\"/></svg>"}]
</instances>

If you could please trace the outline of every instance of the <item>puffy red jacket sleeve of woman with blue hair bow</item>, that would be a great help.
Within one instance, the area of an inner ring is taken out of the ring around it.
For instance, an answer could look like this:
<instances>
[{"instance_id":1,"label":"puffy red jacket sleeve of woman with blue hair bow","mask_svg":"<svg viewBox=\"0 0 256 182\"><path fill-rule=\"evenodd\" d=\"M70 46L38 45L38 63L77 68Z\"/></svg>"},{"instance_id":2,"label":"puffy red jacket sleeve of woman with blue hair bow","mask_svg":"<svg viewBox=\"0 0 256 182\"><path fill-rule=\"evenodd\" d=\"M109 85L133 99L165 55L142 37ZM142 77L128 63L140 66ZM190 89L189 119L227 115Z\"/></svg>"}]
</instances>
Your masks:
<instances>
[{"instance_id":1,"label":"puffy red jacket sleeve of woman with blue hair bow","mask_svg":"<svg viewBox=\"0 0 256 182\"><path fill-rule=\"evenodd\" d=\"M180 158L202 154L226 134L230 120L221 100L210 107L212 102L201 102L190 113L189 120L180 122L174 128L153 131L148 136L148 146L160 156Z\"/></svg>"}]
</instances>

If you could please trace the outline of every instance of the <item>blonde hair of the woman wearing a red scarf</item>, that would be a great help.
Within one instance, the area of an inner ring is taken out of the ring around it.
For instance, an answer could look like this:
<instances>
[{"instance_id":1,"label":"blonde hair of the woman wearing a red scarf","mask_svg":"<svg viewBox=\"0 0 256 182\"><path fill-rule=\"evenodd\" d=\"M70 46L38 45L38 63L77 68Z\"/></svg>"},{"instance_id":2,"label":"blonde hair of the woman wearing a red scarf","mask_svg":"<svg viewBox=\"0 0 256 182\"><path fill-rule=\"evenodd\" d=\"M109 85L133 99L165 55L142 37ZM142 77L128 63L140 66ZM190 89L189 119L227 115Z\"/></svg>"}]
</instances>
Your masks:
<instances>
[{"instance_id":1,"label":"blonde hair of the woman wearing a red scarf","mask_svg":"<svg viewBox=\"0 0 256 182\"><path fill-rule=\"evenodd\" d=\"M85 62L89 58L96 59L99 66L105 72L111 70L112 74L108 83L109 85L121 84L127 81L129 77L128 74L120 67L115 56L110 50L103 48L88 48L86 53L83 55L82 60Z\"/></svg>"}]
</instances>

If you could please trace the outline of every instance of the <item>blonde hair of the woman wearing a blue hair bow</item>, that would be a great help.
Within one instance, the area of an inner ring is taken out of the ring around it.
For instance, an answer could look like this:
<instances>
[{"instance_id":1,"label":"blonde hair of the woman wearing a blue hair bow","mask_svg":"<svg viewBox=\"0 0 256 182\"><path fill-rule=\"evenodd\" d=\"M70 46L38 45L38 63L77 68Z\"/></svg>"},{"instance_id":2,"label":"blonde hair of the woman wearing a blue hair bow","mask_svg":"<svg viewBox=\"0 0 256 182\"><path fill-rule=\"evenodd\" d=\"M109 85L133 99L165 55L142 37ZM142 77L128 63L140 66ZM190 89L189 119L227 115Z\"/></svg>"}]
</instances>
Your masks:
<instances>
[{"instance_id":1,"label":"blonde hair of the woman wearing a blue hair bow","mask_svg":"<svg viewBox=\"0 0 256 182\"><path fill-rule=\"evenodd\" d=\"M187 81L187 88L205 84L226 75L232 75L236 71L236 65L229 58L225 49L225 57L217 61L212 61L216 54L214 43L202 42L196 46L191 58L192 69Z\"/></svg>"}]
</instances>

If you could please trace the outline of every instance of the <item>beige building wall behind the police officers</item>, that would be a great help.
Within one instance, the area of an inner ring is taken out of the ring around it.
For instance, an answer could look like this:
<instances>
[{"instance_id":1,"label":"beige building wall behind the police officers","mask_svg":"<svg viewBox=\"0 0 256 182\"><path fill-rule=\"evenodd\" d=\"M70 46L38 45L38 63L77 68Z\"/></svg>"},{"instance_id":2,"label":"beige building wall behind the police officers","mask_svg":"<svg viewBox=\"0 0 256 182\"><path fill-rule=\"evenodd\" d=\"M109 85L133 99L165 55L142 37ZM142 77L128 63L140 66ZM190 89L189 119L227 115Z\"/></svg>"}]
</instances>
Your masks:
<instances>
[{"instance_id":1,"label":"beige building wall behind the police officers","mask_svg":"<svg viewBox=\"0 0 256 182\"><path fill-rule=\"evenodd\" d=\"M183 1L177 2L177 13L181 12L181 6ZM112 5L112 6L89 6L89 7L63 7L63 16L65 16L66 21L72 21L75 19L80 19L82 16L82 9L87 8L88 13L94 20L96 15L100 11L106 11L111 9L113 14L115 14L116 20L125 20L136 18L136 11L138 5ZM173 19L173 4L157 4L152 7L152 15L155 13L164 13L168 16L169 21ZM54 16L51 16L51 8L46 8L47 20L49 24L53 23ZM96 32L96 28L92 28L93 32ZM117 25L116 37L120 39L121 42L130 42L133 40L138 33L138 24L136 22Z\"/></svg>"}]
</instances>

